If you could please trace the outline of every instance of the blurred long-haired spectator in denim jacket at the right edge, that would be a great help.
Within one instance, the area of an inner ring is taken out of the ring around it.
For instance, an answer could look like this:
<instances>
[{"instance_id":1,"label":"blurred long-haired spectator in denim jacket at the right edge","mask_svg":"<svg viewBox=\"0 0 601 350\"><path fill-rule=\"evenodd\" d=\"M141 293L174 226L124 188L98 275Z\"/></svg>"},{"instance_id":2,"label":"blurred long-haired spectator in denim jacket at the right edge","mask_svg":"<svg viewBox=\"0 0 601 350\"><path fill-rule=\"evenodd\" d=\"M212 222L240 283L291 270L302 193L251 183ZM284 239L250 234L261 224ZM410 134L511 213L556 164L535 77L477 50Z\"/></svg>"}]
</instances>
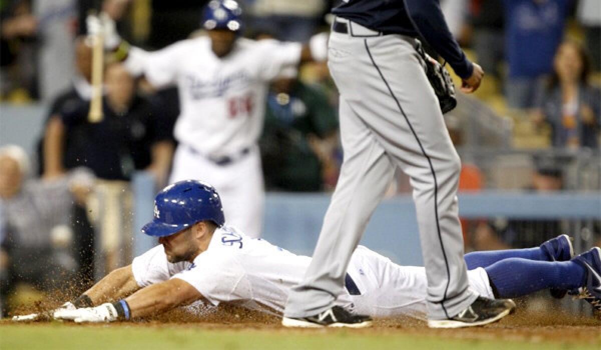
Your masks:
<instances>
[{"instance_id":1,"label":"blurred long-haired spectator in denim jacket at the right edge","mask_svg":"<svg viewBox=\"0 0 601 350\"><path fill-rule=\"evenodd\" d=\"M584 48L575 41L561 44L533 112L536 124L551 125L555 147L599 147L601 92L590 85L589 75Z\"/></svg>"}]
</instances>

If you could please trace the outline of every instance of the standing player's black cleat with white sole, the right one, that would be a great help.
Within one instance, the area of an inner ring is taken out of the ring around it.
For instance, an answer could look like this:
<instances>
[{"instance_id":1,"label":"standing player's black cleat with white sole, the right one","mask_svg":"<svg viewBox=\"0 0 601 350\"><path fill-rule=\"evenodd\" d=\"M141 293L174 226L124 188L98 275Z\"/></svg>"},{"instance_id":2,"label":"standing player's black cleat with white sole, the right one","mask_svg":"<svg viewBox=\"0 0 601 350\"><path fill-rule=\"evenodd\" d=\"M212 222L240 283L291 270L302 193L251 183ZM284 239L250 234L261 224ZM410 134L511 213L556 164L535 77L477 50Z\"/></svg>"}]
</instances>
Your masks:
<instances>
[{"instance_id":1,"label":"standing player's black cleat with white sole, the right one","mask_svg":"<svg viewBox=\"0 0 601 350\"><path fill-rule=\"evenodd\" d=\"M429 319L430 328L460 328L486 325L513 313L516 304L511 299L478 297L467 309L450 319Z\"/></svg>"}]
</instances>

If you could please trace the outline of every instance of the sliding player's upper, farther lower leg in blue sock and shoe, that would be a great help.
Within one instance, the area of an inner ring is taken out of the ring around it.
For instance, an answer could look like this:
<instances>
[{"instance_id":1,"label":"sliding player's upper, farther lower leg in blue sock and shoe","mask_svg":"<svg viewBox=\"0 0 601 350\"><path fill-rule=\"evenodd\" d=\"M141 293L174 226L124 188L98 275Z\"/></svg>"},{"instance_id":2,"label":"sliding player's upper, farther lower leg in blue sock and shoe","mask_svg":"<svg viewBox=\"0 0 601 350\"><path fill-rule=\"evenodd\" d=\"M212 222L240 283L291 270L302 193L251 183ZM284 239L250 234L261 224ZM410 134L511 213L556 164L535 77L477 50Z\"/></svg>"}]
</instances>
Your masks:
<instances>
[{"instance_id":1,"label":"sliding player's upper, farther lower leg in blue sock and shoe","mask_svg":"<svg viewBox=\"0 0 601 350\"><path fill-rule=\"evenodd\" d=\"M574 256L572 241L568 235L560 235L541 244L539 247L507 250L484 250L464 256L468 270L487 267L508 258L522 258L537 261L569 261Z\"/></svg>"}]
</instances>

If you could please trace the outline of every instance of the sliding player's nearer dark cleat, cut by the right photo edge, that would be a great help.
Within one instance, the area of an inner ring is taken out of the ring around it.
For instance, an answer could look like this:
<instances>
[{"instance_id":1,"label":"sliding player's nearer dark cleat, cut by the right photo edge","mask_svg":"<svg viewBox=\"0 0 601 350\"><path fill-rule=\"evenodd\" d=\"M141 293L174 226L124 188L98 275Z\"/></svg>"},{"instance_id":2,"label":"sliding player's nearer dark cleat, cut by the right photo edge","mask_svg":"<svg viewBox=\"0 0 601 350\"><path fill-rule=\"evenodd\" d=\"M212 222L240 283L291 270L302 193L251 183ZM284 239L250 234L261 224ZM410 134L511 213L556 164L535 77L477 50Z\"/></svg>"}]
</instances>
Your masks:
<instances>
[{"instance_id":1,"label":"sliding player's nearer dark cleat, cut by the right photo edge","mask_svg":"<svg viewBox=\"0 0 601 350\"><path fill-rule=\"evenodd\" d=\"M585 270L585 285L579 289L580 293L576 297L588 301L595 310L601 312L601 248L594 247L572 261Z\"/></svg>"}]
</instances>

